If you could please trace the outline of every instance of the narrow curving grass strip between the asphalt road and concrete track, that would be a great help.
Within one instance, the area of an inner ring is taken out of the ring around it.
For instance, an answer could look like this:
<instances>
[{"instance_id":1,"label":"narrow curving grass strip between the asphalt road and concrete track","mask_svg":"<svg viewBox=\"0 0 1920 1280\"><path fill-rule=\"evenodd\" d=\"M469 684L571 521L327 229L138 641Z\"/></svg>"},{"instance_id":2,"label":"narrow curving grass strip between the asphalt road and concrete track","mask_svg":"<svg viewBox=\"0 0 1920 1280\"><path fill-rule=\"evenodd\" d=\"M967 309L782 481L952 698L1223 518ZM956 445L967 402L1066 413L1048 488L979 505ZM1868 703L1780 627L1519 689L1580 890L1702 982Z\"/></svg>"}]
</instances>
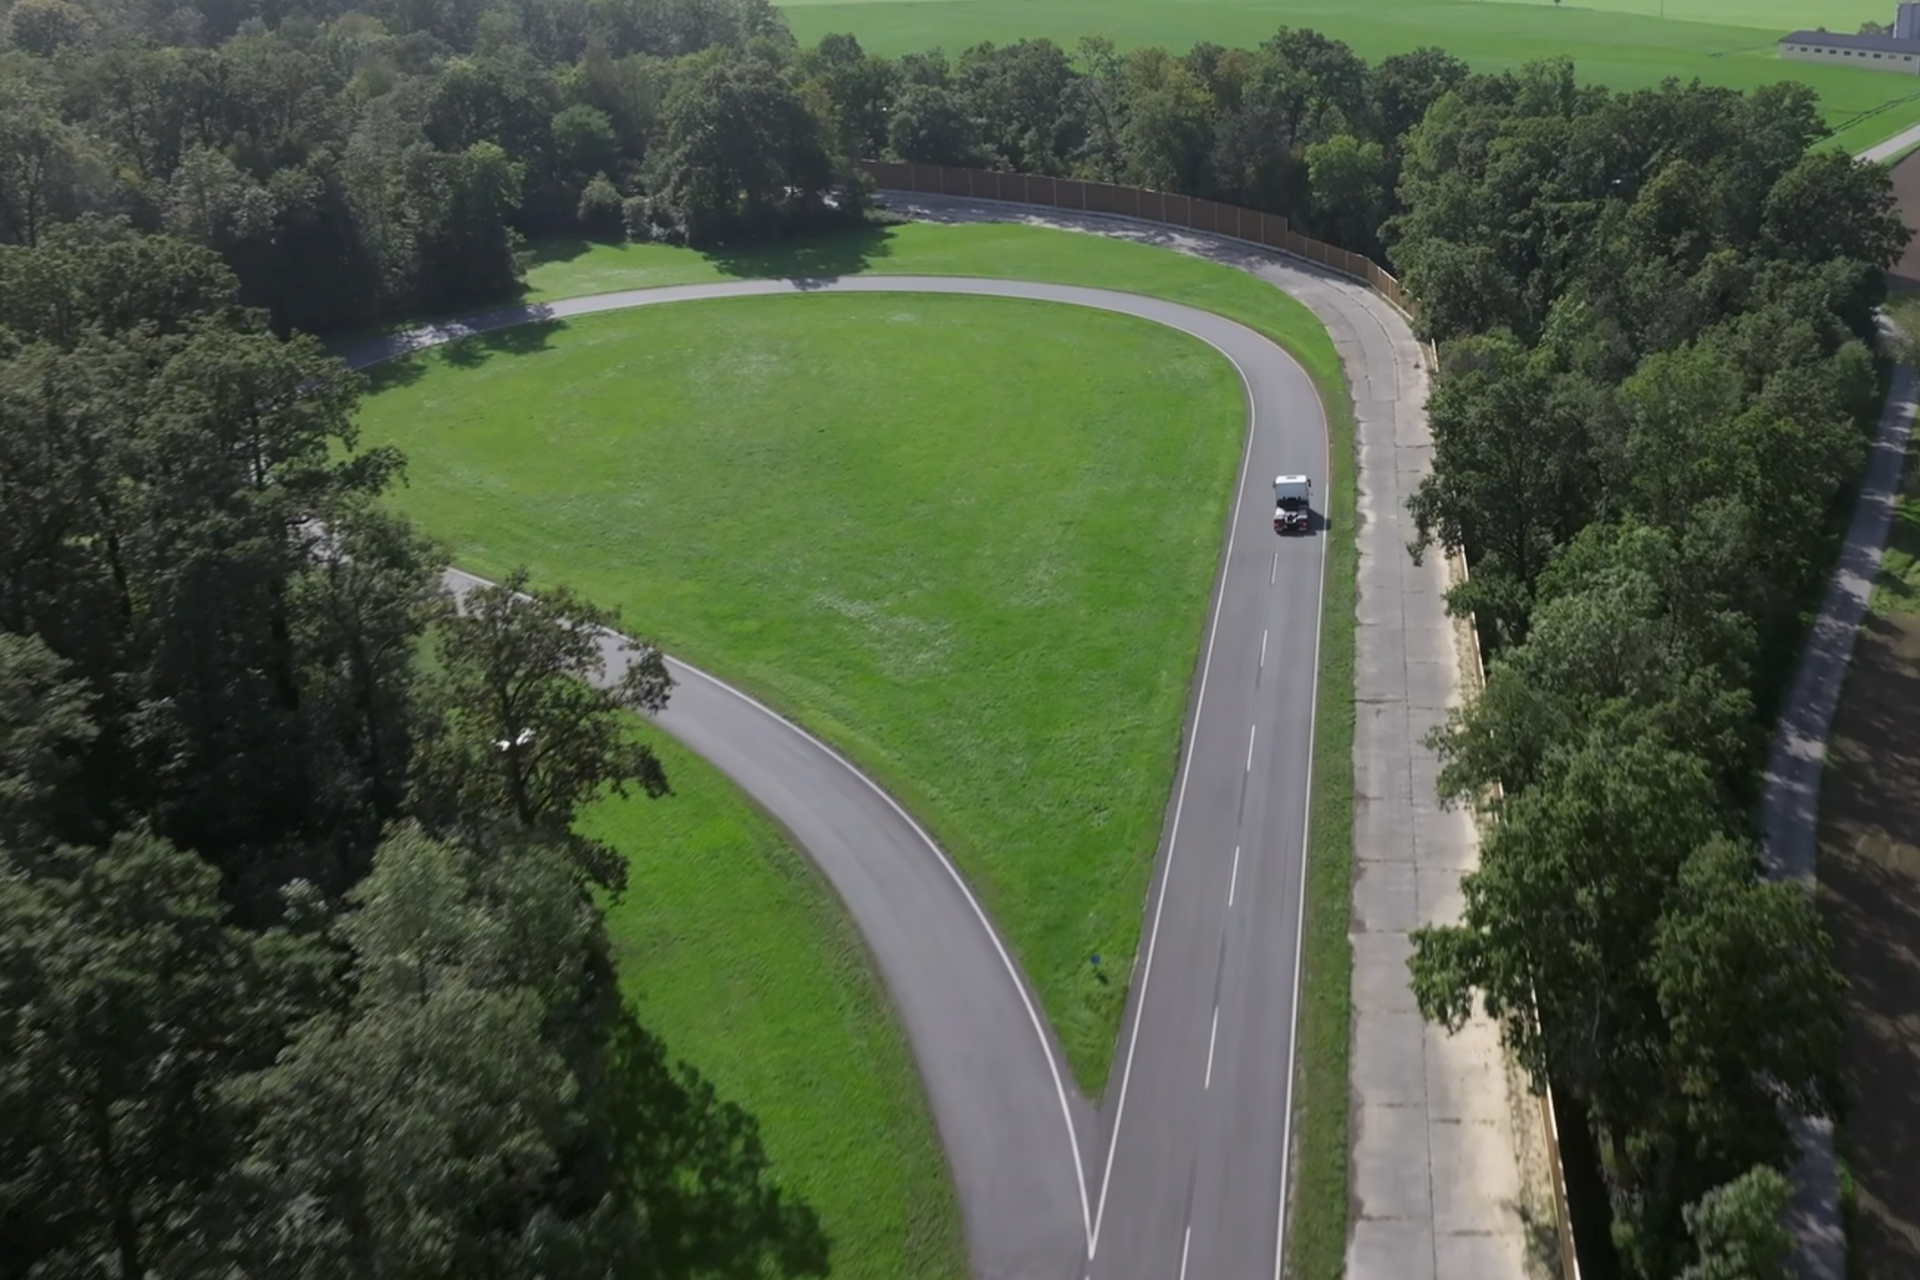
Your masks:
<instances>
[{"instance_id":1,"label":"narrow curving grass strip between the asphalt road and concrete track","mask_svg":"<svg viewBox=\"0 0 1920 1280\"><path fill-rule=\"evenodd\" d=\"M1327 486L1329 547L1321 706L1315 725L1313 816L1308 862L1308 933L1302 956L1298 1103L1294 1126L1288 1274L1334 1280L1342 1270L1348 1217L1348 1036L1350 971L1346 929L1352 854L1354 745L1354 418L1340 357L1327 330L1298 301L1240 271L1098 236L1018 225L906 225L804 242L772 251L699 255L660 246L543 246L528 274L534 299L622 288L651 288L739 276L829 276L874 273L975 274L1117 288L1185 301L1231 317L1298 359L1321 391L1332 432L1334 472ZM1169 779L1171 781L1171 779ZM737 793L712 804L741 804ZM720 856L714 850L712 856ZM818 879L808 881L820 889ZM741 933L751 929L743 923ZM1137 940L1135 933L1129 935ZM733 935L712 940L726 954ZM1131 942L1125 954L1131 956ZM1117 952L1116 952L1117 956ZM1117 971L1117 965L1112 965ZM751 1055L749 1023L708 1009L726 1031L714 1055ZM1108 1036L1108 1044L1112 1036ZM820 1054L841 1052L820 1042ZM804 1100L797 1086L791 1092ZM795 1123L831 1125L833 1111L804 1100ZM772 1140L772 1138L770 1138ZM847 1272L854 1274L854 1272Z\"/></svg>"}]
</instances>

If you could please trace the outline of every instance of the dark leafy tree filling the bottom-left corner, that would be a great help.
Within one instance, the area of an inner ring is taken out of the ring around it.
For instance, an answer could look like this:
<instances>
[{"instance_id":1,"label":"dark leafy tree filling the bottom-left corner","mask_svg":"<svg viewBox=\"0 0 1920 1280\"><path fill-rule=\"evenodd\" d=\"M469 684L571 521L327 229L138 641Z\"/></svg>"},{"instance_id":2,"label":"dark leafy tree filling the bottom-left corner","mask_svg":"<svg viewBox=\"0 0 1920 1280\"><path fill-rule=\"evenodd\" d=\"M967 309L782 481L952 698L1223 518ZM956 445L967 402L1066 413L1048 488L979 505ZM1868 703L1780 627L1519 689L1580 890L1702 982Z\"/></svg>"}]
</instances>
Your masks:
<instances>
[{"instance_id":1,"label":"dark leafy tree filling the bottom-left corner","mask_svg":"<svg viewBox=\"0 0 1920 1280\"><path fill-rule=\"evenodd\" d=\"M35 875L0 850L0 1251L23 1274L207 1274L234 1213L219 1086L271 1055L219 873L148 833Z\"/></svg>"}]
</instances>

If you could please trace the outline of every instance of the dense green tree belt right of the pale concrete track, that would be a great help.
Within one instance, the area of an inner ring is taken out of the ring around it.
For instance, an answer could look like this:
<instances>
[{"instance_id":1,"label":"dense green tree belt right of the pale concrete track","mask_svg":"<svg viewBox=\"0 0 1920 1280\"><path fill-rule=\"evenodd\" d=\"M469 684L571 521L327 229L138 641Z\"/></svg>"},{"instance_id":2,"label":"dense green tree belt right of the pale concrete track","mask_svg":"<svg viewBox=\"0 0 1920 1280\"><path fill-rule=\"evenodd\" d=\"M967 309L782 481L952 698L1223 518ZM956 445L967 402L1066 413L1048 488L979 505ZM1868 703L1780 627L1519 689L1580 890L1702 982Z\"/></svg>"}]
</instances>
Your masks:
<instances>
[{"instance_id":1,"label":"dense green tree belt right of the pale concrete track","mask_svg":"<svg viewBox=\"0 0 1920 1280\"><path fill-rule=\"evenodd\" d=\"M1843 1105L1841 981L1807 894L1759 879L1753 806L1908 232L1822 132L1795 84L1476 77L1407 130L1382 228L1440 347L1411 551L1467 557L1450 608L1490 654L1434 735L1484 858L1415 990L1446 1025L1484 1004L1578 1105L1649 1280L1703 1230L1688 1274L1774 1274L1728 1261L1715 1188Z\"/></svg>"}]
</instances>

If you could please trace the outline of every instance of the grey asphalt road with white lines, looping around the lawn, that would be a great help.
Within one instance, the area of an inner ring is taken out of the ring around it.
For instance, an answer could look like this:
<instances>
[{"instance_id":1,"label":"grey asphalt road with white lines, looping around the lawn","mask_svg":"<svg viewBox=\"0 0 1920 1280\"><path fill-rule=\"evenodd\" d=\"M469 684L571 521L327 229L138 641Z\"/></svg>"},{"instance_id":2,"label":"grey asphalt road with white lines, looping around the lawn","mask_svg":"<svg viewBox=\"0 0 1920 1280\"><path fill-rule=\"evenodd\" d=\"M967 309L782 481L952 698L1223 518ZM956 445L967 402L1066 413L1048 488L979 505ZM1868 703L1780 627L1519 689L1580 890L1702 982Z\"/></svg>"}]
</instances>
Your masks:
<instances>
[{"instance_id":1,"label":"grey asphalt road with white lines, looping around the lawn","mask_svg":"<svg viewBox=\"0 0 1920 1280\"><path fill-rule=\"evenodd\" d=\"M912 1042L983 1280L1233 1280L1279 1270L1325 530L1277 537L1271 482L1327 486L1306 372L1179 303L954 276L741 280L507 307L369 342L365 367L461 336L668 301L939 292L1098 307L1208 342L1240 372L1248 438L1110 1096L1073 1090L1044 1013L960 873L837 752L674 662L660 723L820 865ZM455 589L474 580L451 572Z\"/></svg>"}]
</instances>

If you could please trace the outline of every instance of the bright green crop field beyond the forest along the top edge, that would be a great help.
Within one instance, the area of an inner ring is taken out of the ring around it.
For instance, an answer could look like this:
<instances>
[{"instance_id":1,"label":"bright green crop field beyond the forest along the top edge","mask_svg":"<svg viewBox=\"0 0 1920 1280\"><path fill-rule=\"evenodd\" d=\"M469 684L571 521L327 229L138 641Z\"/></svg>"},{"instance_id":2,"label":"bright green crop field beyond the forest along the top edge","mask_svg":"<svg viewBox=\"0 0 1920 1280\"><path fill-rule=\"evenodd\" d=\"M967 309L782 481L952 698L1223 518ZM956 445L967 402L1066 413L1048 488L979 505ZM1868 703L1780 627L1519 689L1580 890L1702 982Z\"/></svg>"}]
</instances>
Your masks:
<instances>
[{"instance_id":1,"label":"bright green crop field beyond the forest along the top edge","mask_svg":"<svg viewBox=\"0 0 1920 1280\"><path fill-rule=\"evenodd\" d=\"M1920 77L1782 61L1776 42L1801 27L1857 31L1891 23L1893 0L783 0L801 40L851 31L879 54L979 40L1050 36L1068 48L1085 35L1123 46L1196 40L1252 46L1279 27L1311 27L1346 40L1369 61L1432 44L1476 71L1569 56L1582 79L1613 88L1699 77L1753 88L1805 81L1820 92L1828 123L1849 150L1862 150L1920 121ZM1665 12L1665 19L1661 13Z\"/></svg>"}]
</instances>

